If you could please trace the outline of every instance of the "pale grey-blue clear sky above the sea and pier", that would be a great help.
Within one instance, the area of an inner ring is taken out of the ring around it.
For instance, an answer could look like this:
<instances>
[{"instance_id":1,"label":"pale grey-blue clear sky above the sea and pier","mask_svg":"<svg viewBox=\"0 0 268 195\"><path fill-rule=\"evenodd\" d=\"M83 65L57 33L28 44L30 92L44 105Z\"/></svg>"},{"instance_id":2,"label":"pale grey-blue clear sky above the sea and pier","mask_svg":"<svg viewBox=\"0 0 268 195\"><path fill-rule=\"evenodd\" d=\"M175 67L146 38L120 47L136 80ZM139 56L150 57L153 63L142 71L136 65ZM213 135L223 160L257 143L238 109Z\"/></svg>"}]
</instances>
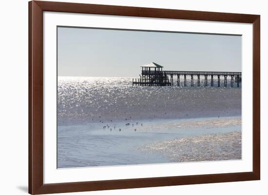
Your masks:
<instances>
[{"instance_id":1,"label":"pale grey-blue clear sky above the sea and pier","mask_svg":"<svg viewBox=\"0 0 268 195\"><path fill-rule=\"evenodd\" d=\"M138 77L163 70L241 71L242 36L57 28L58 76Z\"/></svg>"}]
</instances>

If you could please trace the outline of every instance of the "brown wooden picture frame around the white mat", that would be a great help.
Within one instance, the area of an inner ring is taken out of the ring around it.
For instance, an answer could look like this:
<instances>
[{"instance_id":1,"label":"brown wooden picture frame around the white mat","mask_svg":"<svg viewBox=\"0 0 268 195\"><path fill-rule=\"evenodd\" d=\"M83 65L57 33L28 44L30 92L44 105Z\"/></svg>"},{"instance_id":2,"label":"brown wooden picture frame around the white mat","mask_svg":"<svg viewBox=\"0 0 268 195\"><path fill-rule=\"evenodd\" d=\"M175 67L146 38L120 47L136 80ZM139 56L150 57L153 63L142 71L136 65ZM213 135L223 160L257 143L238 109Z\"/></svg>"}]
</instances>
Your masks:
<instances>
[{"instance_id":1,"label":"brown wooden picture frame around the white mat","mask_svg":"<svg viewBox=\"0 0 268 195\"><path fill-rule=\"evenodd\" d=\"M43 184L43 11L253 24L253 171ZM260 16L51 1L29 2L29 193L67 193L260 179Z\"/></svg>"}]
</instances>

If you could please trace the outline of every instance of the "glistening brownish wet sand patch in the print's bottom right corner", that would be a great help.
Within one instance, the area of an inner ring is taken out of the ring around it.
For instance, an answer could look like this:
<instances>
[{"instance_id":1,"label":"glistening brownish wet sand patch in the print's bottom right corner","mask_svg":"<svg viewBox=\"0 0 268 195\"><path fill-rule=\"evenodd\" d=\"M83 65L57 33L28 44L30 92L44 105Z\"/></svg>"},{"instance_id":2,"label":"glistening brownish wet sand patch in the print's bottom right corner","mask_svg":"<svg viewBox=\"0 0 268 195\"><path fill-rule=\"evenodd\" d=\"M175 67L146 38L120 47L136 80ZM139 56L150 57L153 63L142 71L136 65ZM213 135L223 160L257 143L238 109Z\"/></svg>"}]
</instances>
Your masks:
<instances>
[{"instance_id":1,"label":"glistening brownish wet sand patch in the print's bottom right corner","mask_svg":"<svg viewBox=\"0 0 268 195\"><path fill-rule=\"evenodd\" d=\"M242 159L241 132L206 134L155 142L136 148L162 155L170 162L200 162Z\"/></svg>"}]
</instances>

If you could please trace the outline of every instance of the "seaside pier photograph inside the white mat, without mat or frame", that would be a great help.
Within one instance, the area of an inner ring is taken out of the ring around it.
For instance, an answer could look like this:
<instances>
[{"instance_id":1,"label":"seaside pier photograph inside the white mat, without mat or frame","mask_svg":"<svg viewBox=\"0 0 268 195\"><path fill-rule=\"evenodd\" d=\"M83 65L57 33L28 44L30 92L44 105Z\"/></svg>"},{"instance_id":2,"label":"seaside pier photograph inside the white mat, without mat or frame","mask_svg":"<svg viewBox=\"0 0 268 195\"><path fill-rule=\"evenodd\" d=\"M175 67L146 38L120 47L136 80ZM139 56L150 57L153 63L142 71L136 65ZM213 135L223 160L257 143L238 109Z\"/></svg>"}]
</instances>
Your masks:
<instances>
[{"instance_id":1,"label":"seaside pier photograph inside the white mat, without mat or frame","mask_svg":"<svg viewBox=\"0 0 268 195\"><path fill-rule=\"evenodd\" d=\"M57 168L242 159L242 36L57 27Z\"/></svg>"}]
</instances>

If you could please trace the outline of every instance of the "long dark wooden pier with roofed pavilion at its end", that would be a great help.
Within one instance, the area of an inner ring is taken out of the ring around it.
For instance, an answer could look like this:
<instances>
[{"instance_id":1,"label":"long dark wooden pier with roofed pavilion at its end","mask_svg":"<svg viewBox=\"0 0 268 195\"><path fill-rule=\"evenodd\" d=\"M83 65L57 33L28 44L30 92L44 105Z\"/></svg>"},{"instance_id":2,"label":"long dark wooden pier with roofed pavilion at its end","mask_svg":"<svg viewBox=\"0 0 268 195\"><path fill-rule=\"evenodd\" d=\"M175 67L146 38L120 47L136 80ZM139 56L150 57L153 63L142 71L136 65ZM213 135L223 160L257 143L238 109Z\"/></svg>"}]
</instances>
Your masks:
<instances>
[{"instance_id":1,"label":"long dark wooden pier with roofed pavilion at its end","mask_svg":"<svg viewBox=\"0 0 268 195\"><path fill-rule=\"evenodd\" d=\"M220 77L224 77L224 87L227 87L227 82L230 81L230 86L240 86L242 82L242 72L212 72L212 71L173 71L163 70L163 66L154 62L141 66L141 75L132 81L133 85L139 86L182 86L180 79L182 78L183 86L187 86L187 76L191 77L191 87L200 87L200 76L204 77L204 86L208 87L208 79L211 80L211 87L220 87ZM197 82L193 79L197 77ZM214 78L216 83L214 83ZM176 79L174 81L174 79ZM236 84L235 84L236 83ZM216 84L216 85L214 85Z\"/></svg>"}]
</instances>

